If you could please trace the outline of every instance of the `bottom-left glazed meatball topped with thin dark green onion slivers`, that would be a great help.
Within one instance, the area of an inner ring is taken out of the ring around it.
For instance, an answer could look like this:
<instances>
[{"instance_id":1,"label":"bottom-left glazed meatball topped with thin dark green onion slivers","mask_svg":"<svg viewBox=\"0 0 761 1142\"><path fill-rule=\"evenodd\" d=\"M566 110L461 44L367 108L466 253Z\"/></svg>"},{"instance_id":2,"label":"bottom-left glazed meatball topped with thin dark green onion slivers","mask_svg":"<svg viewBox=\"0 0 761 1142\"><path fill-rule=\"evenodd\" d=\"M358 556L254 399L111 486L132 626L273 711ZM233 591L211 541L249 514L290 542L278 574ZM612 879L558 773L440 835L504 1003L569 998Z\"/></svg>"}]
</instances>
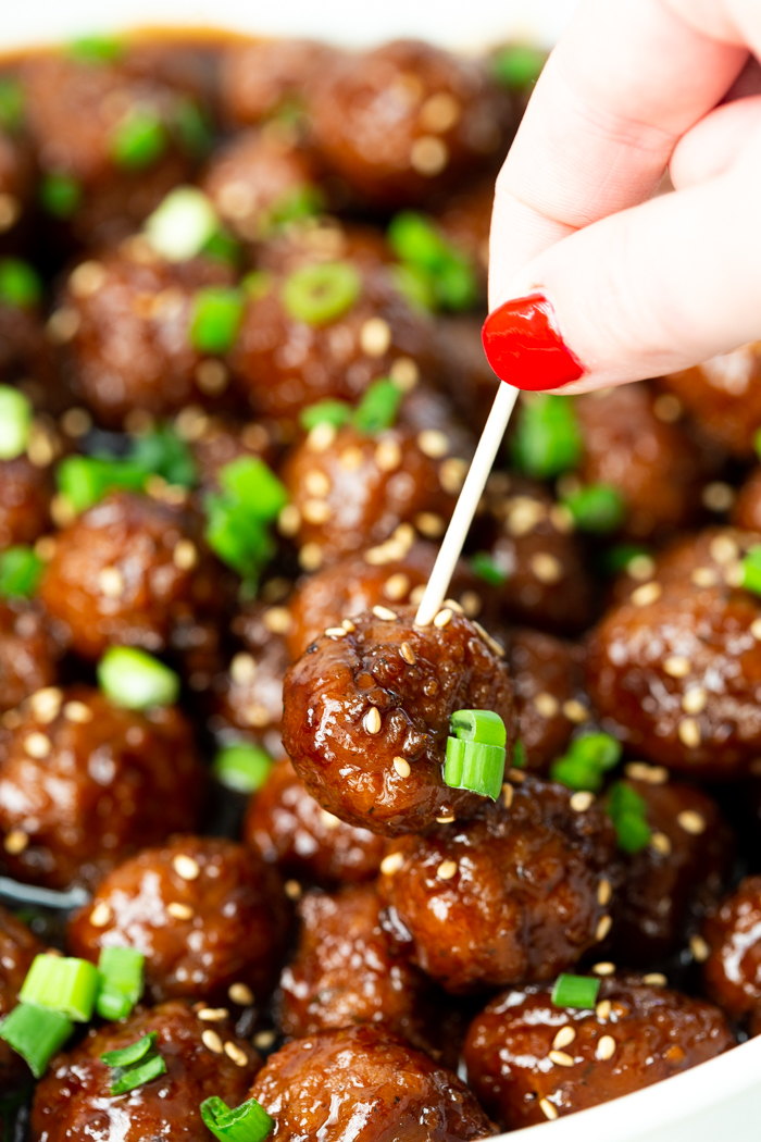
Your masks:
<instances>
[{"instance_id":1,"label":"bottom-left glazed meatball topped with thin dark green onion slivers","mask_svg":"<svg viewBox=\"0 0 761 1142\"><path fill-rule=\"evenodd\" d=\"M202 1042L210 1028L219 1051ZM167 1073L127 1096L112 1097L112 1071L100 1055L131 1046L152 1031ZM221 1044L232 1046L234 1057ZM179 1000L138 1008L126 1022L91 1028L79 1046L56 1056L34 1095L31 1137L110 1142L118 1135L123 1142L208 1142L201 1103L216 1094L230 1107L240 1105L260 1067L259 1055L235 1037L229 1020L208 1023Z\"/></svg>"}]
</instances>

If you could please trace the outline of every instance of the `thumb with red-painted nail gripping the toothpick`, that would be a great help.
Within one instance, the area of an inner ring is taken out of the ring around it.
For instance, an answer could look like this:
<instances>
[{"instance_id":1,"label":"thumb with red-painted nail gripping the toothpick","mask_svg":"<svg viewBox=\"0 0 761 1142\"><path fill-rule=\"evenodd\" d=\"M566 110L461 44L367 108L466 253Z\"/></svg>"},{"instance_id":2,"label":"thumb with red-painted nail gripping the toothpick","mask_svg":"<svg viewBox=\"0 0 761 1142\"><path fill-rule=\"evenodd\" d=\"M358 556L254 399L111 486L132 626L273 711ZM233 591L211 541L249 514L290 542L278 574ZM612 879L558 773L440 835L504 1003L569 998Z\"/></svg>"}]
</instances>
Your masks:
<instances>
[{"instance_id":1,"label":"thumb with red-painted nail gripping the toothpick","mask_svg":"<svg viewBox=\"0 0 761 1142\"><path fill-rule=\"evenodd\" d=\"M569 376L582 373L565 393L674 372L761 339L760 177L756 134L723 175L596 222L520 270L500 301L547 298L554 333L580 364ZM539 359L526 353L528 325L517 340L512 333L517 356L489 348L489 330L499 332L500 314L513 311L516 301L489 314L487 355L493 365L501 356L504 380L544 387L526 363Z\"/></svg>"}]
</instances>

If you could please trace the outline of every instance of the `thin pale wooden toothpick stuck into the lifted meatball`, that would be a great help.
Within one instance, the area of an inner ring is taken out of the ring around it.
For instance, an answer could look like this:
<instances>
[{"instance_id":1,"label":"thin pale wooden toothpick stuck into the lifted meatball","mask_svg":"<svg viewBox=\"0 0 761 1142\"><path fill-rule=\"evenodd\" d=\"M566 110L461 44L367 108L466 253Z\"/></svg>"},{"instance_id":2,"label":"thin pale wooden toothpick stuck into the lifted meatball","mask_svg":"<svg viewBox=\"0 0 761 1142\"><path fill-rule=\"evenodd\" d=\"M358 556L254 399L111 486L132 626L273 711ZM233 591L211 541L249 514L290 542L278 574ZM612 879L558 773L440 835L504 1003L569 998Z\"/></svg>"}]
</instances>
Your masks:
<instances>
[{"instance_id":1,"label":"thin pale wooden toothpick stuck into the lifted meatball","mask_svg":"<svg viewBox=\"0 0 761 1142\"><path fill-rule=\"evenodd\" d=\"M450 521L450 526L446 529L446 536L436 557L431 577L426 587L426 594L418 608L415 625L419 627L427 627L429 622L434 621L442 608L442 603L448 594L450 581L454 574L460 552L462 550L465 536L484 492L488 474L492 471L494 458L502 443L510 415L518 399L518 392L517 388L504 384L501 384L497 389L492 411L488 415L481 439L478 441L476 455L468 469L465 482L462 485L460 498Z\"/></svg>"}]
</instances>

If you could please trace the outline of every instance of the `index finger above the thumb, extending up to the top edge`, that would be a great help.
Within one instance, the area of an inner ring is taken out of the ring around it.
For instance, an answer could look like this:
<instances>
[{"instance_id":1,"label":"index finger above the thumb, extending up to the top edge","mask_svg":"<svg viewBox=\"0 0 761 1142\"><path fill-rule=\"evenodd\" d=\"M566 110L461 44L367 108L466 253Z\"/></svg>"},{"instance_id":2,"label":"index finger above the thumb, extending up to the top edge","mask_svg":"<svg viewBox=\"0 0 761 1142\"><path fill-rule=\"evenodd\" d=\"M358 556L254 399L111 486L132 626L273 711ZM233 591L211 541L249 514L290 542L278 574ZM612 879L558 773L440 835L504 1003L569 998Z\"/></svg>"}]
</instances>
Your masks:
<instances>
[{"instance_id":1,"label":"index finger above the thumb, extending up to the top edge","mask_svg":"<svg viewBox=\"0 0 761 1142\"><path fill-rule=\"evenodd\" d=\"M705 29L667 0L582 2L497 178L492 307L542 250L649 198L678 139L730 87L747 48L721 0L701 7L715 8Z\"/></svg>"}]
</instances>

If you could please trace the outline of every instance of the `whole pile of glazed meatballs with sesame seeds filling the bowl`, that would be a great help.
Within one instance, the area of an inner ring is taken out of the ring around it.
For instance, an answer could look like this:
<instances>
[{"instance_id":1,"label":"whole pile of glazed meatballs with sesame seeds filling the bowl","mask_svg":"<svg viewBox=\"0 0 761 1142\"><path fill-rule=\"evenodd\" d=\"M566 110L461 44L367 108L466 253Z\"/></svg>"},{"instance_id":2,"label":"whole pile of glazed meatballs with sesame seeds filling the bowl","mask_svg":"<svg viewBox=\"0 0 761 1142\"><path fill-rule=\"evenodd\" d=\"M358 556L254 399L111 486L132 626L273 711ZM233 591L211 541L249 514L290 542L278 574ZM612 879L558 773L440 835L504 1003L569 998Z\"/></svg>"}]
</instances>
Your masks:
<instances>
[{"instance_id":1,"label":"whole pile of glazed meatballs with sesame seeds filling the bowl","mask_svg":"<svg viewBox=\"0 0 761 1142\"><path fill-rule=\"evenodd\" d=\"M283 1142L483 1139L761 1031L761 345L523 399L414 621L540 66L178 35L0 67L0 1014L46 950L145 957L37 1085L0 1040L18 1137L209 1142L217 1096ZM177 702L116 700L114 648ZM504 723L496 801L444 781L462 709ZM165 1072L112 1095L152 1032Z\"/></svg>"}]
</instances>

